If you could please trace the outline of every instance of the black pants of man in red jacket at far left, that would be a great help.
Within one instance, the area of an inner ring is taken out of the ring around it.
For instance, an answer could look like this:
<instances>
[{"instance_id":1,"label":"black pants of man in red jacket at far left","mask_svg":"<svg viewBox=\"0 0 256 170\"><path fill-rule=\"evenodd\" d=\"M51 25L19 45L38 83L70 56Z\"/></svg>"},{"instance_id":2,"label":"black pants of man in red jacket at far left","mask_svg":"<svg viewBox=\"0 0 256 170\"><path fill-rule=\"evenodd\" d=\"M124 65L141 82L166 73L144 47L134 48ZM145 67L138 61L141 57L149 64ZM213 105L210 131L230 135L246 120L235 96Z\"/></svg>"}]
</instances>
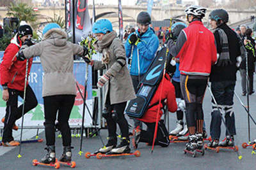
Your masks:
<instances>
[{"instance_id":1,"label":"black pants of man in red jacket at far left","mask_svg":"<svg viewBox=\"0 0 256 170\"><path fill-rule=\"evenodd\" d=\"M9 99L6 102L6 114L4 120L4 132L3 132L3 142L10 142L13 141L12 136L12 127L15 124L16 120L22 117L22 108L23 104L18 107L18 97L20 96L22 99L24 97L24 92L15 90L15 89L8 89L9 92ZM26 89L26 103L24 114L27 113L29 110L32 110L37 106L37 99L36 96L28 85Z\"/></svg>"}]
</instances>

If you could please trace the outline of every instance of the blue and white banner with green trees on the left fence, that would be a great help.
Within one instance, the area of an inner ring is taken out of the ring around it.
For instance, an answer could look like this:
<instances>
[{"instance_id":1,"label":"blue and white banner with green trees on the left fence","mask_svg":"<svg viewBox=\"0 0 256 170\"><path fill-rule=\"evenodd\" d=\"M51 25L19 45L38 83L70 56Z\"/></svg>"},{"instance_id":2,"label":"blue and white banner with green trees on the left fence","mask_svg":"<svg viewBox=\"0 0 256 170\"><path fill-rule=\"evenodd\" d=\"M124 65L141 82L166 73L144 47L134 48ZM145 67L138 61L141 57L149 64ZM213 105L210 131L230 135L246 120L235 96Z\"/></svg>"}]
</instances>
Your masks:
<instances>
[{"instance_id":1,"label":"blue and white banner with green trees on the left fence","mask_svg":"<svg viewBox=\"0 0 256 170\"><path fill-rule=\"evenodd\" d=\"M0 52L0 59L3 58L3 52ZM25 127L40 127L44 126L44 100L42 98L42 83L44 81L44 71L42 69L42 65L37 61L38 59L33 61L31 71L29 74L29 85L35 92L36 98L38 99L38 105L33 110L26 113L24 116L24 126ZM85 85L85 72L86 72L86 64L84 62L75 62L74 63L74 76L76 78L79 89L81 90L84 96L84 85ZM52 82L54 83L54 82ZM5 115L6 102L2 99L3 88L0 89L0 118L3 118ZM22 104L22 98L19 97L18 104ZM87 90L86 90L86 104L89 108L90 113L93 111L93 99L92 99L92 67L89 66L88 70L88 82L87 82ZM83 116L83 99L79 94L79 90L77 89L76 101L74 103L74 107L72 109L69 124L70 126L81 126ZM17 120L17 125L21 125L21 118ZM84 117L84 126L92 127L92 118L89 115L88 110L85 110ZM0 121L0 128L3 128L3 123Z\"/></svg>"}]
</instances>

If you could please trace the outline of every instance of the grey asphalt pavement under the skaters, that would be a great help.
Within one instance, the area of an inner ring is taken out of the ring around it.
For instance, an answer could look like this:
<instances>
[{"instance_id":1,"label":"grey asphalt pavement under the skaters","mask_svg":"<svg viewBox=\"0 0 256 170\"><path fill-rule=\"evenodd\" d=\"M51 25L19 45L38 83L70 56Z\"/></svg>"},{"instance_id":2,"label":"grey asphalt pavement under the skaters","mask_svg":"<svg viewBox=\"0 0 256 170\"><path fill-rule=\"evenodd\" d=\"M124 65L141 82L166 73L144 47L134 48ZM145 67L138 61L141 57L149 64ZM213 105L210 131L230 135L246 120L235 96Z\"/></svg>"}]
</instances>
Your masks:
<instances>
[{"instance_id":1,"label":"grey asphalt pavement under the skaters","mask_svg":"<svg viewBox=\"0 0 256 170\"><path fill-rule=\"evenodd\" d=\"M242 96L241 78L237 73L236 92L243 103L247 105L246 96ZM250 96L250 112L256 120L256 94ZM211 94L209 89L206 90L204 98L204 115L207 132L209 134L209 125L211 122ZM193 158L190 154L184 154L183 149L185 143L171 143L167 148L155 146L154 153L151 154L151 146L145 143L139 143L138 149L141 152L140 157L134 155L123 157L104 157L97 159L91 157L86 159L84 153L94 152L102 143L99 136L93 138L83 138L83 154L79 155L80 139L72 138L72 160L76 161L76 169L254 169L256 167L256 154L252 154L252 147L242 148L242 143L248 142L248 116L244 108L234 97L234 113L236 115L236 130L235 136L236 145L239 146L239 155L234 150L220 150L219 153L213 150L205 150L205 155L198 155ZM131 122L131 120L129 120ZM256 128L252 121L251 123L251 141L256 139ZM170 113L170 131L175 128L176 114ZM225 138L225 126L221 126L221 139ZM19 132L19 131L18 131ZM40 138L44 138L44 132L40 133ZM100 136L106 143L108 132L106 129L100 131ZM57 135L56 135L57 137ZM45 139L45 138L44 138ZM54 169L49 166L33 166L33 159L40 160L44 157L46 150L45 141L42 143L25 143L22 144L21 158L17 158L19 147L7 151L0 156L0 169ZM132 148L132 146L131 146ZM3 146L0 146L0 153L3 152ZM132 148L132 152L134 149ZM256 152L256 151L255 151ZM61 138L56 138L56 157L59 158L62 153ZM68 166L61 166L60 169L70 169Z\"/></svg>"}]
</instances>

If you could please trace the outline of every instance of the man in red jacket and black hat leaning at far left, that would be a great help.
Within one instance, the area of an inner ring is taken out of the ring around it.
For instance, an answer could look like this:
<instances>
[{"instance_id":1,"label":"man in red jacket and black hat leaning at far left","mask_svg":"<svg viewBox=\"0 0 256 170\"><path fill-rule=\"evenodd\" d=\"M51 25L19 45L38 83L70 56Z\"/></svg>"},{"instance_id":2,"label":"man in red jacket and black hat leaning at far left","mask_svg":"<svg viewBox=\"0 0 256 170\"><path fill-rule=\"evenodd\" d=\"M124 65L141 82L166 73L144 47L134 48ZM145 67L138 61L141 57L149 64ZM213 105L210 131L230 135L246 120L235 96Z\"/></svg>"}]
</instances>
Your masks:
<instances>
[{"instance_id":1,"label":"man in red jacket and black hat leaning at far left","mask_svg":"<svg viewBox=\"0 0 256 170\"><path fill-rule=\"evenodd\" d=\"M14 141L12 136L12 129L17 131L18 127L15 121L22 117L21 104L18 107L18 97L24 97L24 85L26 74L26 60L19 61L15 57L19 52L22 44L33 45L29 37L33 35L33 31L29 25L20 25L18 33L11 40L10 45L4 51L3 61L0 65L1 85L3 87L3 100L6 101L6 114L2 118L4 123L3 131L3 146L17 146L20 143ZM31 69L33 59L29 59L28 74ZM37 105L36 96L27 83L26 87L26 106L24 113L32 110Z\"/></svg>"}]
</instances>

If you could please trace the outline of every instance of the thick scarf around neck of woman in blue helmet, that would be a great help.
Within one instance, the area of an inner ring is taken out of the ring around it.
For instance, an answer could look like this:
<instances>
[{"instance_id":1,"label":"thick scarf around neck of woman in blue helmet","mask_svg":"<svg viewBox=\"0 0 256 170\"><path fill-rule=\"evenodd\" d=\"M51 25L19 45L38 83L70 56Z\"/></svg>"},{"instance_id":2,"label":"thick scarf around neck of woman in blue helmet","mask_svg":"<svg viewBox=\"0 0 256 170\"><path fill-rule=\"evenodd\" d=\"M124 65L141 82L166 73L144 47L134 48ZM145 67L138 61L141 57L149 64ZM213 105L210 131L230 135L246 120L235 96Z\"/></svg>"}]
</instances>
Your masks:
<instances>
[{"instance_id":1,"label":"thick scarf around neck of woman in blue helmet","mask_svg":"<svg viewBox=\"0 0 256 170\"><path fill-rule=\"evenodd\" d=\"M105 34L101 41L97 40L93 43L93 47L98 52L102 53L102 63L109 63L109 50L108 46L111 45L113 39L116 38L116 33L114 31Z\"/></svg>"}]
</instances>

